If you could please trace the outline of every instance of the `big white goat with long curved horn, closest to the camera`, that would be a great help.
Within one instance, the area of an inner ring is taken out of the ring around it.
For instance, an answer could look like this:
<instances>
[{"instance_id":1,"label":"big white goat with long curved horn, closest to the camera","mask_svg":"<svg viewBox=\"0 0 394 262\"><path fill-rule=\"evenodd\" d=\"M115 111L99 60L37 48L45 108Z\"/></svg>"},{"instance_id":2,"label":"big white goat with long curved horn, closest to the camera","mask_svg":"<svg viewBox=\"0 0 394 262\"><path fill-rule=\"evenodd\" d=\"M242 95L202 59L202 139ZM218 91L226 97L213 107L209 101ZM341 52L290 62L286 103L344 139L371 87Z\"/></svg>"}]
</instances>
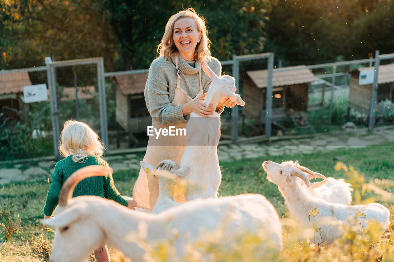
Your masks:
<instances>
[{"instance_id":1,"label":"big white goat with long curved horn, closest to the camera","mask_svg":"<svg viewBox=\"0 0 394 262\"><path fill-rule=\"evenodd\" d=\"M278 214L271 203L258 194L197 199L160 214L133 211L97 196L71 198L79 181L92 173L106 175L108 172L110 168L87 166L71 175L63 185L59 195L63 211L53 219L41 220L56 227L50 261L84 261L90 251L102 243L120 249L133 261L144 261L146 252L138 245L140 238L153 248L171 239L175 251L173 259L182 260L187 245L206 236L204 231L217 230L223 230L217 239L223 244L224 250L221 251L228 253L239 244L238 236L246 232L256 236L260 232L258 236L266 239L256 243L260 261L264 261L268 254L279 252L282 247ZM138 232L139 237L136 236Z\"/></svg>"}]
</instances>

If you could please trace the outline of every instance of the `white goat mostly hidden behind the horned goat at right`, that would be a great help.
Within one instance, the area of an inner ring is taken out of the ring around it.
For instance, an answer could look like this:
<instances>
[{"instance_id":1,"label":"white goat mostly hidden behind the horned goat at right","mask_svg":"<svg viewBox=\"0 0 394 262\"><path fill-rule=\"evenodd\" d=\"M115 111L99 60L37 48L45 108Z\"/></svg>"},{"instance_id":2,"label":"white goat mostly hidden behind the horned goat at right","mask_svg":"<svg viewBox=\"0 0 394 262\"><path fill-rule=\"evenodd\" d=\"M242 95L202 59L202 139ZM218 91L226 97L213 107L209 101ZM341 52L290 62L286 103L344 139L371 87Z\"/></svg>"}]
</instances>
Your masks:
<instances>
[{"instance_id":1,"label":"white goat mostly hidden behind the horned goat at right","mask_svg":"<svg viewBox=\"0 0 394 262\"><path fill-rule=\"evenodd\" d=\"M299 166L298 161L296 161L296 165ZM309 180L315 178L307 172L304 173L307 175ZM313 184L313 186L310 186L308 188L310 194L312 194L314 197L324 199L329 203L350 205L351 191L353 191L353 188L350 188L351 185L349 183L346 183L344 179L337 180L333 177L325 177L324 175L316 172L315 175L318 178L322 178L323 181L321 181L320 184L316 183ZM300 183L301 186L305 186L305 183L302 181L300 181Z\"/></svg>"}]
</instances>

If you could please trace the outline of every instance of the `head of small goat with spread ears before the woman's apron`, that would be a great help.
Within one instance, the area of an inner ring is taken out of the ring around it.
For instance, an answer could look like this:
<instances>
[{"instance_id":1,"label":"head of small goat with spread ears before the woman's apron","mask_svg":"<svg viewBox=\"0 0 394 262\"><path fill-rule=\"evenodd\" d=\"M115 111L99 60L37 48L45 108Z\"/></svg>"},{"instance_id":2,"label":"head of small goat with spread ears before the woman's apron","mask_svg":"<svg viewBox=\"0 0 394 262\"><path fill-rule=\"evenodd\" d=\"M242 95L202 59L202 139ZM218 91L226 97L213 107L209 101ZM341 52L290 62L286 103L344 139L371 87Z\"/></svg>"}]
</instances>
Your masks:
<instances>
[{"instance_id":1,"label":"head of small goat with spread ears before the woman's apron","mask_svg":"<svg viewBox=\"0 0 394 262\"><path fill-rule=\"evenodd\" d=\"M176 179L177 177L183 177L189 172L190 166L178 168L177 163L172 160L163 160L156 168L147 162L140 161L139 165L145 170L146 173L151 173L154 177L165 177L168 179Z\"/></svg>"}]
</instances>

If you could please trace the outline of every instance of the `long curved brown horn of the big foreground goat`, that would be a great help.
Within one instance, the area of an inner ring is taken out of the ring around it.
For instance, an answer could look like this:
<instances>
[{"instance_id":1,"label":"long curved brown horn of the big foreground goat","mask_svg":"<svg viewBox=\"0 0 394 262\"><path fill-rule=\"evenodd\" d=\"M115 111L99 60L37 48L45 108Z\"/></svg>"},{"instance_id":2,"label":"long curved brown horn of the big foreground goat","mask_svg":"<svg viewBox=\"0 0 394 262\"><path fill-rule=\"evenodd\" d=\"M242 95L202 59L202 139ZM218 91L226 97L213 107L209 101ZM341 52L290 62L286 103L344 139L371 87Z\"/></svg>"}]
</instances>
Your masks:
<instances>
[{"instance_id":1,"label":"long curved brown horn of the big foreground goat","mask_svg":"<svg viewBox=\"0 0 394 262\"><path fill-rule=\"evenodd\" d=\"M61 187L59 193L59 206L69 206L70 199L72 198L72 192L74 192L74 188L82 179L85 179L87 177L106 176L110 172L112 172L112 168L100 165L85 166L78 169L77 171L72 173L69 178L67 178L67 180Z\"/></svg>"}]
</instances>

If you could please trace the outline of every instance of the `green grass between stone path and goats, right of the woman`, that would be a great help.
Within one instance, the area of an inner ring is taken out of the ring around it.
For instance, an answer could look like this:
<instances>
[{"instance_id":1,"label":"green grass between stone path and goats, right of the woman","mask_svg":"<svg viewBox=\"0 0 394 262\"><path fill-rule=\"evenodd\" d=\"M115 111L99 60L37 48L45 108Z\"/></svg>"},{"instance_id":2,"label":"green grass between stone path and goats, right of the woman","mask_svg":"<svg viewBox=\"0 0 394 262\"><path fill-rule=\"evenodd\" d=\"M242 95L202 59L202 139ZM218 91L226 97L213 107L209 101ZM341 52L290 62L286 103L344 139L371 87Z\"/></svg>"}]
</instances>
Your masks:
<instances>
[{"instance_id":1,"label":"green grass between stone path and goats, right of the woman","mask_svg":"<svg viewBox=\"0 0 394 262\"><path fill-rule=\"evenodd\" d=\"M337 160L338 159L338 160ZM230 196L244 193L262 194L274 205L280 216L284 214L284 199L278 188L267 180L267 175L261 164L266 160L281 163L296 161L301 166L322 173L326 177L346 178L342 171L336 171L336 162L342 161L347 166L353 166L359 173L364 173L366 182L370 179L393 179L394 176L394 144L385 146L368 146L365 148L334 150L329 152L314 152L304 155L285 155L262 157L234 162L220 163L222 183L219 196ZM390 191L391 190L391 191ZM394 192L391 188L388 191Z\"/></svg>"}]
</instances>

